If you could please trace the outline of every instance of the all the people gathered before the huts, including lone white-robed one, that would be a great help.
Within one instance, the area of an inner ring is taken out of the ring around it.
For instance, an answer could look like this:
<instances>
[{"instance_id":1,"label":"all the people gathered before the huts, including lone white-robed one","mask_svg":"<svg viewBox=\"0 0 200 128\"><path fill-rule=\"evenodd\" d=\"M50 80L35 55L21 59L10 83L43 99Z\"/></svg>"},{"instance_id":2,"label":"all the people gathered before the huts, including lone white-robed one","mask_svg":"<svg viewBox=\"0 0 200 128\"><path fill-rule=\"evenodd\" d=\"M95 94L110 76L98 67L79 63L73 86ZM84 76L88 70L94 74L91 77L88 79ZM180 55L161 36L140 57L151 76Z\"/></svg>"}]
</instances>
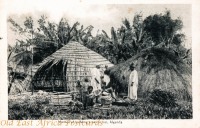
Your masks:
<instances>
[{"instance_id":1,"label":"all the people gathered before the huts, including lone white-robed one","mask_svg":"<svg viewBox=\"0 0 200 128\"><path fill-rule=\"evenodd\" d=\"M86 109L87 106L93 106L95 103L100 103L102 95L109 95L112 99L117 100L115 91L109 84L110 77L105 74L107 69L107 65L105 65L104 70L101 70L100 65L96 65L96 67L91 70L91 81L88 78L85 78L82 84L80 81L77 82L77 87L79 87L80 91L80 100L84 104L84 109ZM130 70L128 98L137 100L138 74L134 64L130 65Z\"/></svg>"}]
</instances>

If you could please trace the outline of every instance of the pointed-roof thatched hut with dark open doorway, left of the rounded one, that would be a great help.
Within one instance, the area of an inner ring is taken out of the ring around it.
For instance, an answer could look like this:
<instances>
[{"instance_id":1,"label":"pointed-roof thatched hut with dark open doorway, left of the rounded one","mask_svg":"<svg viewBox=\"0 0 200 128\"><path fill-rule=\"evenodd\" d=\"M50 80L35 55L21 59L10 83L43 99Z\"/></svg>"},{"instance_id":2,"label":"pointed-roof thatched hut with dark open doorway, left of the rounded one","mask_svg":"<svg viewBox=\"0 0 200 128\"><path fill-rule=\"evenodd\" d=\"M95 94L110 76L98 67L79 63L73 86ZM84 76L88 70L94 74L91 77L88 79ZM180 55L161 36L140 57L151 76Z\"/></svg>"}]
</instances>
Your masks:
<instances>
[{"instance_id":1,"label":"pointed-roof thatched hut with dark open doorway, left of the rounded one","mask_svg":"<svg viewBox=\"0 0 200 128\"><path fill-rule=\"evenodd\" d=\"M78 42L71 41L34 67L35 90L76 91L76 82L91 79L91 69L113 66L107 59Z\"/></svg>"}]
</instances>

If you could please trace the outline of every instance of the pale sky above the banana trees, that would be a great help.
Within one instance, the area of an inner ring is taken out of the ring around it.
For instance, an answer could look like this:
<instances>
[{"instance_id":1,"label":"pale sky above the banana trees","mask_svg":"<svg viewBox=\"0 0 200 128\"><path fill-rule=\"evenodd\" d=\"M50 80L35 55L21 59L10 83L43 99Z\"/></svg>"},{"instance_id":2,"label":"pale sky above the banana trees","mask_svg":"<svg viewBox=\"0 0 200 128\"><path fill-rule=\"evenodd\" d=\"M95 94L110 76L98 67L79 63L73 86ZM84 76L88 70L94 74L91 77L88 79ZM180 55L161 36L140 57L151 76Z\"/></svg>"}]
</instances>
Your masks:
<instances>
[{"instance_id":1,"label":"pale sky above the banana trees","mask_svg":"<svg viewBox=\"0 0 200 128\"><path fill-rule=\"evenodd\" d=\"M8 17L10 16L19 24L23 25L27 16L32 16L36 23L38 18L45 14L50 21L55 23L64 17L70 24L78 21L84 27L92 25L94 26L93 35L102 29L110 35L111 27L120 27L124 18L132 22L136 13L141 12L145 18L149 15L164 13L168 9L173 19L180 17L183 21L182 32L186 35L186 47L191 47L191 5L187 4L69 4L69 2L30 3L26 1L20 6L18 4L18 1L9 3ZM10 29L9 24L7 30L8 43L14 45L16 38L20 37Z\"/></svg>"}]
</instances>

